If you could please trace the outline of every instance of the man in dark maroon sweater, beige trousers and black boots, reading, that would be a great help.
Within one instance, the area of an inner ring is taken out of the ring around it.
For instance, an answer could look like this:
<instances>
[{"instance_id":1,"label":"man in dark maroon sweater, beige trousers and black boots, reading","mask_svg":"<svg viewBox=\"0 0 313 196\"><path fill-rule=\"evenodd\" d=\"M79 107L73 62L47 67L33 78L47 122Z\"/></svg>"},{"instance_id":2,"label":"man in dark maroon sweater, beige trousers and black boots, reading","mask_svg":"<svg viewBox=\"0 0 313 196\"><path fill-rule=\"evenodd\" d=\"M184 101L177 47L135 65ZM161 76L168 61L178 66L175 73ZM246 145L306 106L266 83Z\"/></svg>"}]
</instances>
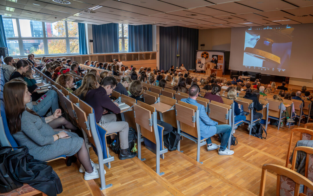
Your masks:
<instances>
[{"instance_id":1,"label":"man in dark maroon sweater, beige trousers and black boots, reading","mask_svg":"<svg viewBox=\"0 0 313 196\"><path fill-rule=\"evenodd\" d=\"M128 123L125 121L116 122L116 114L119 114L121 109L118 107L118 104L112 102L109 97L114 91L116 84L117 82L114 77L103 78L99 88L88 91L85 96L85 102L94 109L96 122L99 123L108 134L119 132L121 147L119 158L123 160L133 158L137 153L128 151ZM113 114L107 114L108 111L111 111Z\"/></svg>"}]
</instances>

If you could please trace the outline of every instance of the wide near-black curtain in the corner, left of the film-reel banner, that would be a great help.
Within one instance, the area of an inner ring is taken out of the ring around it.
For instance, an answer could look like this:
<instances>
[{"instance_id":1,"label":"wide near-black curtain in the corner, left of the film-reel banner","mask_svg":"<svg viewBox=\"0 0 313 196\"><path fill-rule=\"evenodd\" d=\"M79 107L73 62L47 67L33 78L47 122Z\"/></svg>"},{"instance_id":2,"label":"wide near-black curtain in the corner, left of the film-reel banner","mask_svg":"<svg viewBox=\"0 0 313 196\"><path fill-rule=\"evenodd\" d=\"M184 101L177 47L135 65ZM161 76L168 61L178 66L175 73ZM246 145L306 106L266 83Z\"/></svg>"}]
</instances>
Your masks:
<instances>
[{"instance_id":1,"label":"wide near-black curtain in the corner, left of the film-reel banner","mask_svg":"<svg viewBox=\"0 0 313 196\"><path fill-rule=\"evenodd\" d=\"M160 27L160 70L182 63L186 69L195 68L198 33L198 29L186 27Z\"/></svg>"}]
</instances>

